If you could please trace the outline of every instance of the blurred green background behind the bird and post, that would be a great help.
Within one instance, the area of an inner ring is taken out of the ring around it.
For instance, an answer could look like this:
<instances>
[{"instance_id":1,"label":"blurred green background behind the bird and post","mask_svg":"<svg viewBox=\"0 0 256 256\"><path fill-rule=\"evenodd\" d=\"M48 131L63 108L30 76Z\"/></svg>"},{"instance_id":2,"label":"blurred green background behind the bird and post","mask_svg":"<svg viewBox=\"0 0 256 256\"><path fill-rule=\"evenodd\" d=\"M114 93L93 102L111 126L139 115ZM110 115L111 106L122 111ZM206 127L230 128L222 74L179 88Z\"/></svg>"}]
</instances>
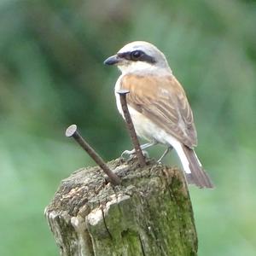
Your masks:
<instances>
[{"instance_id":1,"label":"blurred green background behind the bird and post","mask_svg":"<svg viewBox=\"0 0 256 256\"><path fill-rule=\"evenodd\" d=\"M0 0L0 255L58 255L44 207L61 179L93 165L67 125L105 160L131 148L119 72L102 61L134 40L166 54L194 110L216 183L190 188L199 255L255 255L256 3L223 0Z\"/></svg>"}]
</instances>

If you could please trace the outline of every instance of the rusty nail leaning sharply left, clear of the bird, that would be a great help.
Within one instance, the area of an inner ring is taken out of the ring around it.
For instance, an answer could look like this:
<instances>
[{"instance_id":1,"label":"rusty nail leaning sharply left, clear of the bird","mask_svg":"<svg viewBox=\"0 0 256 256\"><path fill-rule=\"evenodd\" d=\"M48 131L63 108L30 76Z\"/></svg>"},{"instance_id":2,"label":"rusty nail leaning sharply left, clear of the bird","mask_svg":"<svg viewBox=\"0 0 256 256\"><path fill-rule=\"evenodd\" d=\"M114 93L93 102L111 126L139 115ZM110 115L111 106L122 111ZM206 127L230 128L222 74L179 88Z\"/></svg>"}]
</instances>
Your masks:
<instances>
[{"instance_id":1,"label":"rusty nail leaning sharply left, clear of the bird","mask_svg":"<svg viewBox=\"0 0 256 256\"><path fill-rule=\"evenodd\" d=\"M99 154L96 153L96 151L90 147L89 143L87 143L84 138L79 134L77 125L70 125L67 128L66 131L66 137L73 137L79 145L84 148L84 150L87 152L87 154L90 155L90 157L95 160L96 164L100 166L105 172L111 183L113 185L119 185L121 183L121 180L118 176L116 176L107 166L107 164L102 160Z\"/></svg>"}]
</instances>

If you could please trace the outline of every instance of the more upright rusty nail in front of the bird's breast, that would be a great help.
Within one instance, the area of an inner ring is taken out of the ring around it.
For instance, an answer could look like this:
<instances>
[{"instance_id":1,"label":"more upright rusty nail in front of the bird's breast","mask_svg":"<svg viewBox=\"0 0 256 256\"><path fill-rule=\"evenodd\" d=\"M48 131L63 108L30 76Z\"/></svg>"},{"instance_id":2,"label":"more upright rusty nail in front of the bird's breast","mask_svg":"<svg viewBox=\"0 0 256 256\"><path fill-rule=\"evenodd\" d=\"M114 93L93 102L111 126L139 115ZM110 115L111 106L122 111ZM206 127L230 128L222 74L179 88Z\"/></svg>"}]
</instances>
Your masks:
<instances>
[{"instance_id":1,"label":"more upright rusty nail in front of the bird's breast","mask_svg":"<svg viewBox=\"0 0 256 256\"><path fill-rule=\"evenodd\" d=\"M118 90L117 93L120 96L120 102L121 102L121 106L124 112L124 116L125 116L125 121L126 121L126 125L128 128L128 131L130 133L131 136L131 142L133 143L133 146L135 148L135 152L137 155L137 160L139 162L139 165L141 167L146 165L146 161L143 155L143 151L142 148L140 147L140 143L137 139L137 134L134 128L134 125L132 123L131 120L131 114L129 112L128 106L127 106L127 101L126 101L126 94L129 93L129 90Z\"/></svg>"}]
</instances>

